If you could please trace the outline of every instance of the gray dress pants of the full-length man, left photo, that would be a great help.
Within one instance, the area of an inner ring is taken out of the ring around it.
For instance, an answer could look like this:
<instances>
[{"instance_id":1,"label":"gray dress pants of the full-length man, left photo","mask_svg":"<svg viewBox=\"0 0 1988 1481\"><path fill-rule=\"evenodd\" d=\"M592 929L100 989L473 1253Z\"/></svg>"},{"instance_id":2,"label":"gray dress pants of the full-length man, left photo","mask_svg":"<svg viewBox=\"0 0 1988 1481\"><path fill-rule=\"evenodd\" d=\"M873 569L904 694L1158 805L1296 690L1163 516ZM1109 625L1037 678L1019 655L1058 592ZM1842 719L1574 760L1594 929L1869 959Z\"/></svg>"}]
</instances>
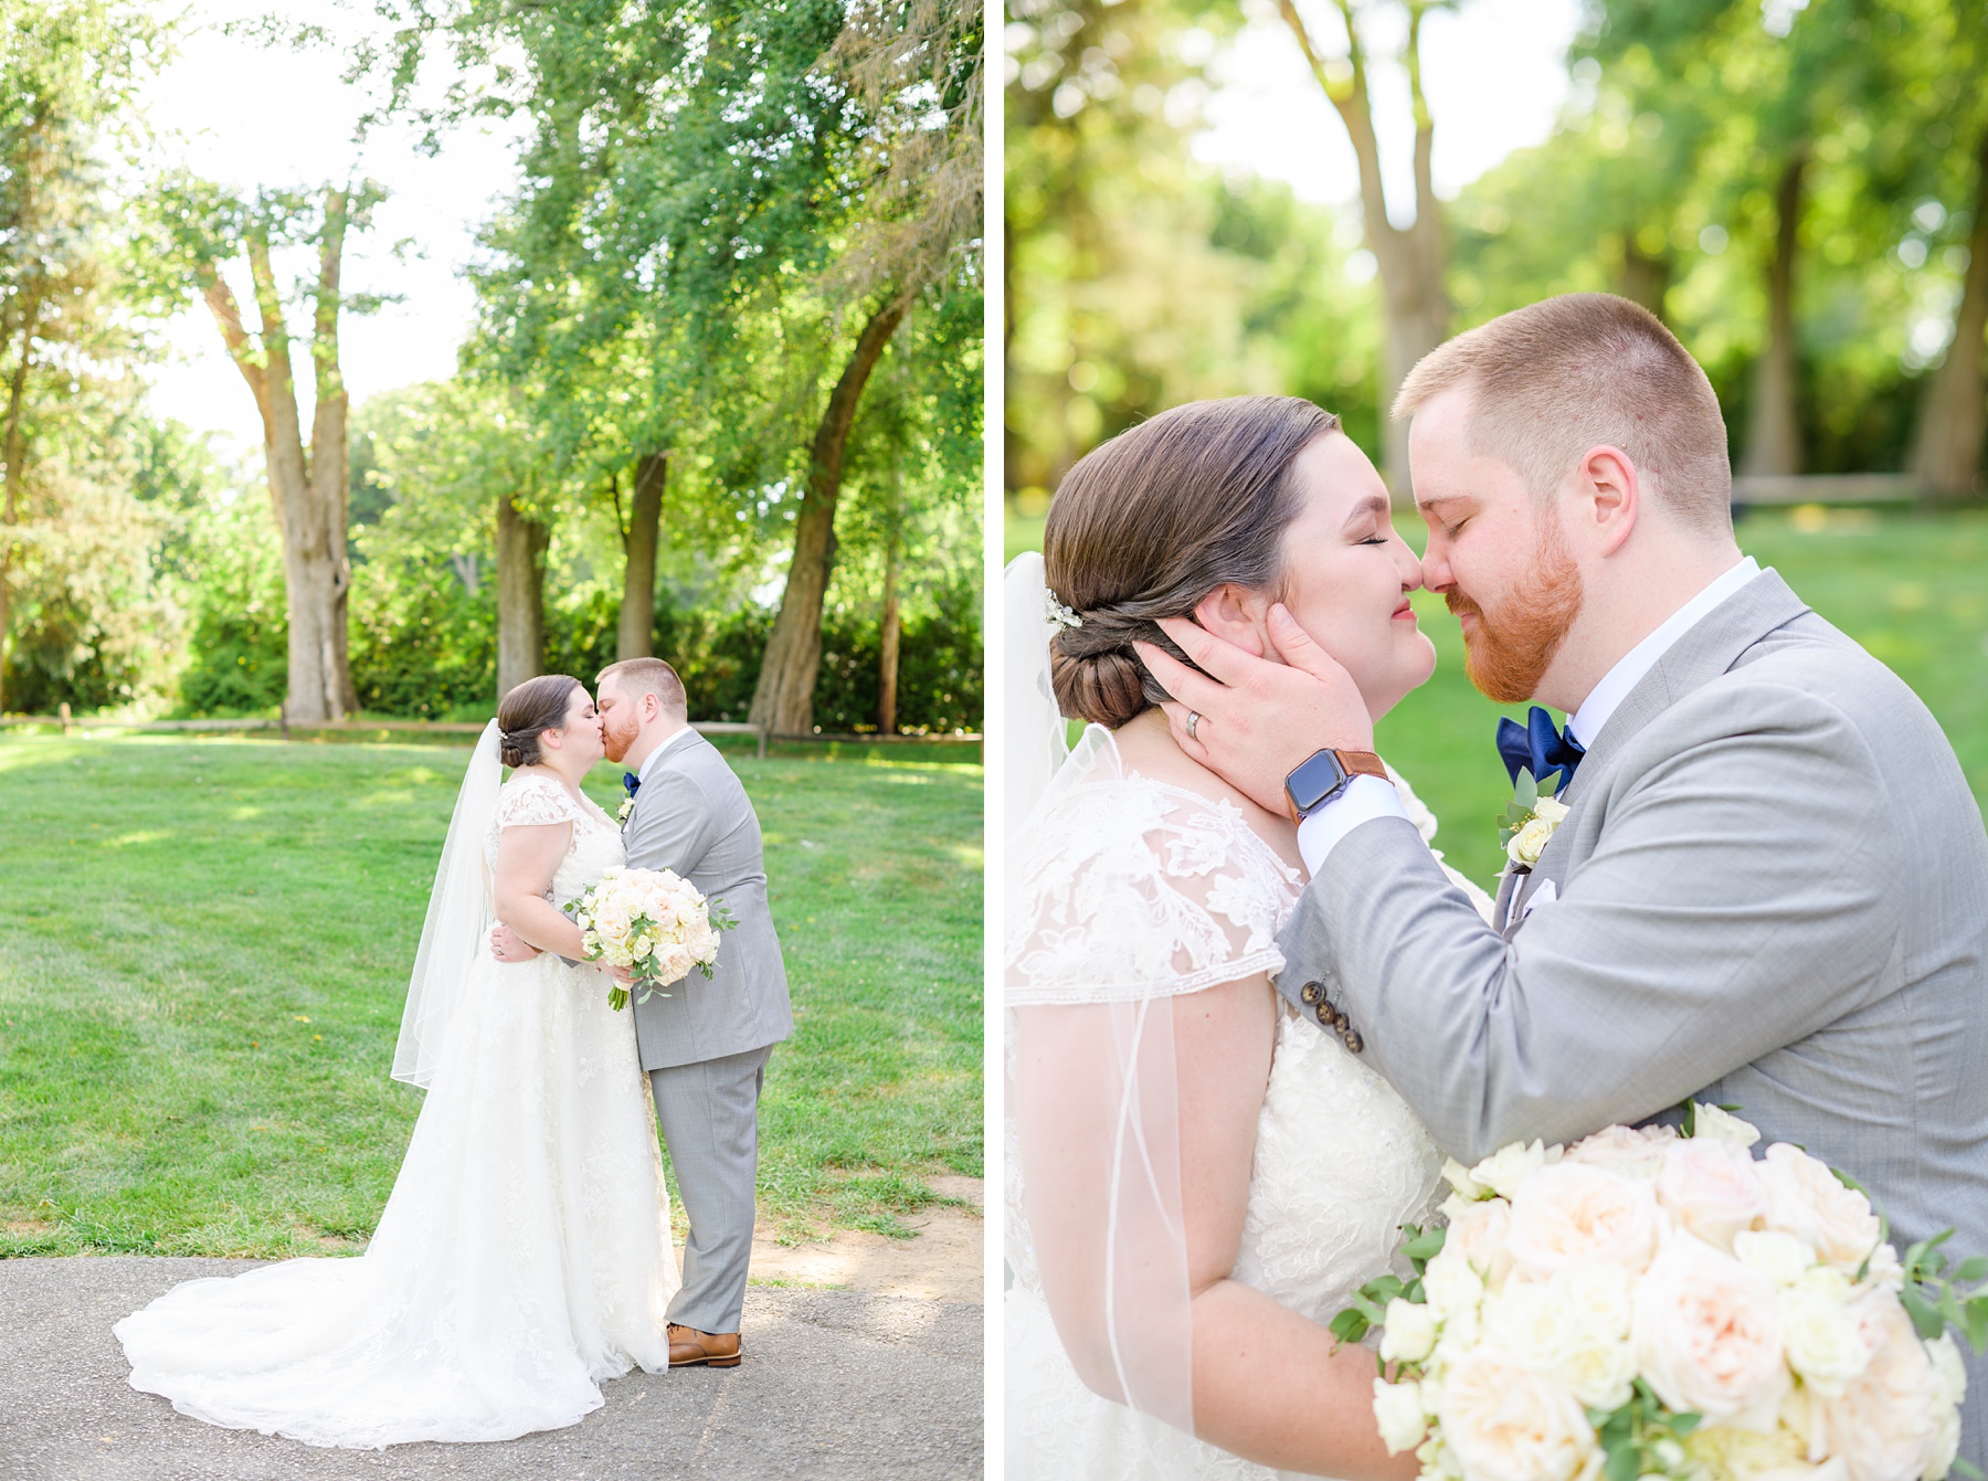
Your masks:
<instances>
[{"instance_id":1,"label":"gray dress pants of the full-length man, left photo","mask_svg":"<svg viewBox=\"0 0 1988 1481\"><path fill-rule=\"evenodd\" d=\"M767 1044L648 1071L656 1125L690 1219L684 1288L670 1302L670 1320L698 1332L740 1330L759 1171L759 1087L771 1054Z\"/></svg>"}]
</instances>

